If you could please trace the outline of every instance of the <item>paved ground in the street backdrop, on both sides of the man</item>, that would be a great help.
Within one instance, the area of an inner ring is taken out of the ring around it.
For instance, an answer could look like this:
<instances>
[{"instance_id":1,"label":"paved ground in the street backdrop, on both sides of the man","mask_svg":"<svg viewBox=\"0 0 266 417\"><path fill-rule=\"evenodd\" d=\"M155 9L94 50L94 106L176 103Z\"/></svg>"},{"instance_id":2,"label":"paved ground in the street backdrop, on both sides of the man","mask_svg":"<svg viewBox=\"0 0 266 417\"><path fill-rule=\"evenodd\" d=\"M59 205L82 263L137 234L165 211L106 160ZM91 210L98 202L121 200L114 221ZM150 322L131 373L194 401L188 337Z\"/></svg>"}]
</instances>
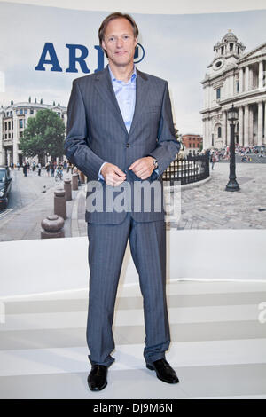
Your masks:
<instances>
[{"instance_id":1,"label":"paved ground in the street backdrop, on both sides of the man","mask_svg":"<svg viewBox=\"0 0 266 417\"><path fill-rule=\"evenodd\" d=\"M184 229L265 229L266 164L237 164L239 192L226 192L229 164L216 163L205 184L181 191L181 218L167 228ZM63 187L63 183L59 186ZM85 222L85 187L72 192L66 201L65 236L87 236ZM53 214L56 186L26 207L10 211L0 218L0 241L40 239L43 218Z\"/></svg>"}]
</instances>

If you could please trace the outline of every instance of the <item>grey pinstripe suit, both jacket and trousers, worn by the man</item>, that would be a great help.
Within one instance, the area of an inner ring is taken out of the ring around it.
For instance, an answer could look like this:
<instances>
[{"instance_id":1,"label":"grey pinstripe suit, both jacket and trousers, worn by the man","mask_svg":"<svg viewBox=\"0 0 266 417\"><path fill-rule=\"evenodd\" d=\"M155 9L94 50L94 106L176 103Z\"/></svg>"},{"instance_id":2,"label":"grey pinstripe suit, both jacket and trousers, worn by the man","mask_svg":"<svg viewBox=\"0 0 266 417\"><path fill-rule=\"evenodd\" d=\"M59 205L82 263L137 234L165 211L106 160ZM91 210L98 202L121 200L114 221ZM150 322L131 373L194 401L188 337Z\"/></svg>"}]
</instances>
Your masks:
<instances>
[{"instance_id":1,"label":"grey pinstripe suit, both jacket and trousers, worn by the man","mask_svg":"<svg viewBox=\"0 0 266 417\"><path fill-rule=\"evenodd\" d=\"M129 165L147 155L158 161L150 183L161 181L162 172L176 157L180 143L176 141L172 120L168 83L137 70L136 106L131 128L126 130L113 92L108 67L93 75L74 80L67 109L65 152L87 177L98 180L104 161L117 165L127 174L127 181L141 181ZM129 239L131 255L137 268L144 296L145 350L147 363L164 358L170 341L165 296L166 242L163 204L160 210L146 212L143 205L134 211L106 210L106 185L102 212L86 211L89 237L90 298L87 341L92 364L111 365L113 342L113 308L121 264ZM113 187L112 199L117 187ZM133 187L132 187L133 189ZM160 192L162 195L162 186ZM162 202L162 201L161 201Z\"/></svg>"}]
</instances>

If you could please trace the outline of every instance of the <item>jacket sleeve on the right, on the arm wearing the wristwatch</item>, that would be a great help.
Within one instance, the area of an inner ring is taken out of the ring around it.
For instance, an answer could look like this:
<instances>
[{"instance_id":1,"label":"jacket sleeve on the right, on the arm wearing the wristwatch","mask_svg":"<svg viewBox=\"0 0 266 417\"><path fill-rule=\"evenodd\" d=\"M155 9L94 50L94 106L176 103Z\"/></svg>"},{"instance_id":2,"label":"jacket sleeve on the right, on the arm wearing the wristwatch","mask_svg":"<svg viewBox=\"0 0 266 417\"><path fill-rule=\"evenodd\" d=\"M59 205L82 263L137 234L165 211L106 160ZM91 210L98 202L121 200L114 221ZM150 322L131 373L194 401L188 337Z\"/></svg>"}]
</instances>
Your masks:
<instances>
[{"instance_id":1,"label":"jacket sleeve on the right, on the arm wearing the wristwatch","mask_svg":"<svg viewBox=\"0 0 266 417\"><path fill-rule=\"evenodd\" d=\"M176 153L180 150L180 142L176 140L175 127L173 123L172 107L169 97L168 83L162 98L160 113L160 124L157 134L157 146L149 153L158 161L158 177L168 168L170 163L176 159Z\"/></svg>"}]
</instances>

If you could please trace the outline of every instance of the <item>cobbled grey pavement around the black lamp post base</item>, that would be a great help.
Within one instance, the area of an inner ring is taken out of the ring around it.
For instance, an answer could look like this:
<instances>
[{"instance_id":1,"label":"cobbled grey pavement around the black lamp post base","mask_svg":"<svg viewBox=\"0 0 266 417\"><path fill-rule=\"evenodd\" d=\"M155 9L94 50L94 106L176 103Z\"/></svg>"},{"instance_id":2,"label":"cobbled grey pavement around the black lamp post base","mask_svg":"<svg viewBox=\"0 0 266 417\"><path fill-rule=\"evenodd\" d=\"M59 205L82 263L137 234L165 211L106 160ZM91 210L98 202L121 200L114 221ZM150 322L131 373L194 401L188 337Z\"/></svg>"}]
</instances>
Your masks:
<instances>
[{"instance_id":1,"label":"cobbled grey pavement around the black lamp post base","mask_svg":"<svg viewBox=\"0 0 266 417\"><path fill-rule=\"evenodd\" d=\"M266 229L266 164L236 164L238 192L227 192L229 164L215 163L204 185L182 189L176 229Z\"/></svg>"}]
</instances>

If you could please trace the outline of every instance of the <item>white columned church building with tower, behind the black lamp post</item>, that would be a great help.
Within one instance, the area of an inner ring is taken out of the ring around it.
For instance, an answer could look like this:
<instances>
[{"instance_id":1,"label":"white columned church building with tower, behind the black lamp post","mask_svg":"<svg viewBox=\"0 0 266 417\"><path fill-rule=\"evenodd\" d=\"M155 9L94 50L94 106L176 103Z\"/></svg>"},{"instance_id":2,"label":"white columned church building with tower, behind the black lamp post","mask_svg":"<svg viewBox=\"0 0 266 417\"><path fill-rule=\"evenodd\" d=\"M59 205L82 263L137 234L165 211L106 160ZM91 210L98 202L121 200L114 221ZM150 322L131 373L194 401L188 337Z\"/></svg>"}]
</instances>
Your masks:
<instances>
[{"instance_id":1,"label":"white columned church building with tower, behind the black lamp post","mask_svg":"<svg viewBox=\"0 0 266 417\"><path fill-rule=\"evenodd\" d=\"M227 112L238 108L236 143L266 144L266 43L244 53L246 46L229 31L214 46L215 58L201 82L204 90L203 148L230 145Z\"/></svg>"}]
</instances>

